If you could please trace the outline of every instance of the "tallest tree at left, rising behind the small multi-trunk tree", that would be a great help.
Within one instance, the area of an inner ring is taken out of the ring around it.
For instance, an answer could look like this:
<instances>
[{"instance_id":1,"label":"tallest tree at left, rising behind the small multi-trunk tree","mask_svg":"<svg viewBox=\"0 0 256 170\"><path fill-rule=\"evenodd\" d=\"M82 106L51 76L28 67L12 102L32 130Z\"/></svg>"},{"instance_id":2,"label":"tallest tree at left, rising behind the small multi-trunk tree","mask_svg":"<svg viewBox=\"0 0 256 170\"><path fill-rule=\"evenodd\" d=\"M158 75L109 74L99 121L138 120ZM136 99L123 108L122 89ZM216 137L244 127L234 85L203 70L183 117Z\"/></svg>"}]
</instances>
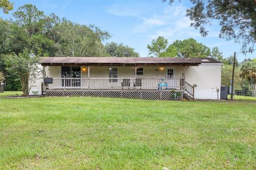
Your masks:
<instances>
[{"instance_id":1,"label":"tallest tree at left, rising behind the small multi-trunk tree","mask_svg":"<svg viewBox=\"0 0 256 170\"><path fill-rule=\"evenodd\" d=\"M54 41L49 39L46 32L46 15L35 5L25 4L13 13L11 24L11 48L19 54L23 49L33 50L36 55L50 56L57 51Z\"/></svg>"}]
</instances>

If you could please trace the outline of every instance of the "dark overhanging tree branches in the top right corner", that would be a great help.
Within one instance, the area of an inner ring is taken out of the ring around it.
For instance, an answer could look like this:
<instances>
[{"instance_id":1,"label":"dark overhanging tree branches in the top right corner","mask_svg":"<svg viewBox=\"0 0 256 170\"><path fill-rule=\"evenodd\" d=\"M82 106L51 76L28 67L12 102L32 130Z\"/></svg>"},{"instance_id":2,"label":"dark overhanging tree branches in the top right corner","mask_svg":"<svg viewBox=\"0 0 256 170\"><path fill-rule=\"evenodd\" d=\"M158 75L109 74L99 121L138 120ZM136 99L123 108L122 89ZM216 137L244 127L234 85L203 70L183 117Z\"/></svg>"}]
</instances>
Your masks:
<instances>
[{"instance_id":1,"label":"dark overhanging tree branches in the top right corner","mask_svg":"<svg viewBox=\"0 0 256 170\"><path fill-rule=\"evenodd\" d=\"M174 0L169 1L172 4ZM221 31L219 37L227 40L243 41L243 52L251 51L256 41L256 1L253 0L190 0L192 7L187 9L191 26L204 37L206 30L214 20L219 21Z\"/></svg>"}]
</instances>

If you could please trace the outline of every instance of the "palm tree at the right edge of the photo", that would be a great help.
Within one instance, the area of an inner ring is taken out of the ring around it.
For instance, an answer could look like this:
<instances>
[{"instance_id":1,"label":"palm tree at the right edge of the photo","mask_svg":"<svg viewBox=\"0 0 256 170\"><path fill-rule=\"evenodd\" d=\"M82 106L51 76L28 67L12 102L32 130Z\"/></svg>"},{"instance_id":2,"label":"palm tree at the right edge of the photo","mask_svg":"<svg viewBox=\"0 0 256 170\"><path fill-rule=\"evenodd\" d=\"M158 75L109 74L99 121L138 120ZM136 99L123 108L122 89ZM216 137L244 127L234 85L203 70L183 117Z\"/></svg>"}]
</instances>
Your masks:
<instances>
[{"instance_id":1,"label":"palm tree at the right edge of the photo","mask_svg":"<svg viewBox=\"0 0 256 170\"><path fill-rule=\"evenodd\" d=\"M253 97L256 94L256 63L249 61L245 62L241 66L240 77L248 80L253 89Z\"/></svg>"}]
</instances>

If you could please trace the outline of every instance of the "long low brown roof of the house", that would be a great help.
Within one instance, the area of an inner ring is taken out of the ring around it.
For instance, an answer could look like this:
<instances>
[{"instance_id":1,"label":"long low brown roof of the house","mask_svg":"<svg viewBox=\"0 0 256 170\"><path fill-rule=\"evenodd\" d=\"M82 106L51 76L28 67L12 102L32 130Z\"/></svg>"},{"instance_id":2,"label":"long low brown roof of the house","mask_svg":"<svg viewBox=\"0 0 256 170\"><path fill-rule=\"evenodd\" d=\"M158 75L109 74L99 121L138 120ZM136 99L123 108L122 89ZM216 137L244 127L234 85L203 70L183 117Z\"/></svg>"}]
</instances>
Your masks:
<instances>
[{"instance_id":1,"label":"long low brown roof of the house","mask_svg":"<svg viewBox=\"0 0 256 170\"><path fill-rule=\"evenodd\" d=\"M202 63L220 63L213 58L171 58L171 57L47 57L43 58L42 65L63 64L173 64L198 65Z\"/></svg>"}]
</instances>

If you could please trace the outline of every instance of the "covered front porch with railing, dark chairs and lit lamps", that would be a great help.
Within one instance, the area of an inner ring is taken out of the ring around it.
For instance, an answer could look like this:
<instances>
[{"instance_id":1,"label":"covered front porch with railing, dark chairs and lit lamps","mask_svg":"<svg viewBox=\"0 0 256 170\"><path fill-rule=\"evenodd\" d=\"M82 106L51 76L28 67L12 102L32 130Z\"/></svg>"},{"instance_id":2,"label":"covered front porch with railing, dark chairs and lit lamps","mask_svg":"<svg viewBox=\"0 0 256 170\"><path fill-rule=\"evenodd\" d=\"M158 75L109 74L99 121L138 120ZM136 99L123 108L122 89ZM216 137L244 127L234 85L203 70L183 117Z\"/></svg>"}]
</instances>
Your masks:
<instances>
[{"instance_id":1,"label":"covered front porch with railing, dark chairs and lit lamps","mask_svg":"<svg viewBox=\"0 0 256 170\"><path fill-rule=\"evenodd\" d=\"M188 67L197 66L197 63L70 63L70 60L68 61L42 63L42 91L45 94L46 92L53 94L53 91L61 91L62 93L57 93L66 95L78 95L78 91L79 94L83 94L83 91L88 94L90 91L98 91L101 94L104 94L103 91L108 94L110 94L108 91L115 91L117 94L117 91L120 91L117 96L123 96L124 91L127 94L131 94L131 91L140 91L139 96L141 96L148 91L151 95L159 94L158 99L161 98L159 91L165 91L165 94L166 91L182 93L186 91L190 96L194 96L194 86L186 82L185 73ZM138 94L135 96L138 97Z\"/></svg>"}]
</instances>

